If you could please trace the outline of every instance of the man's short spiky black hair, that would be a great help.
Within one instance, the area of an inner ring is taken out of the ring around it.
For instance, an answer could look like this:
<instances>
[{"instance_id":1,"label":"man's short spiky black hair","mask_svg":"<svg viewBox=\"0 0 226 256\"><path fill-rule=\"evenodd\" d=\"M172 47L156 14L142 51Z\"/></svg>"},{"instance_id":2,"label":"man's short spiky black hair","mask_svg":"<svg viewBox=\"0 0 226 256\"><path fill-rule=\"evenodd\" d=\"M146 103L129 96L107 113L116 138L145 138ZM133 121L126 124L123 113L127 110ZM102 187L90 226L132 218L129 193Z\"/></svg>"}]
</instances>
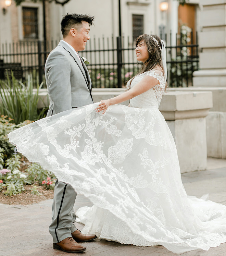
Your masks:
<instances>
[{"instance_id":1,"label":"man's short spiky black hair","mask_svg":"<svg viewBox=\"0 0 226 256\"><path fill-rule=\"evenodd\" d=\"M91 26L93 24L94 16L80 13L67 13L61 21L61 32L63 37L66 36L70 29L77 24L81 24L82 21L86 21Z\"/></svg>"}]
</instances>

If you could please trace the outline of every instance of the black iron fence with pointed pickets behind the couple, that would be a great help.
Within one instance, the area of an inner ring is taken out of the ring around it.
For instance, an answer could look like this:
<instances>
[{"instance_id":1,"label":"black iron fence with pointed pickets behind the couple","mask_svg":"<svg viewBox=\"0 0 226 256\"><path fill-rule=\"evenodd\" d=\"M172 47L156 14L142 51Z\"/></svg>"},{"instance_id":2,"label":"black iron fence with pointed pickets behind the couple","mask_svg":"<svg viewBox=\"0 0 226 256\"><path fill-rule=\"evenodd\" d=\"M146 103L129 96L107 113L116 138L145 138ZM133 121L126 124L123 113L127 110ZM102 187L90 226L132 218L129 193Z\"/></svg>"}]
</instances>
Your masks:
<instances>
[{"instance_id":1,"label":"black iron fence with pointed pickets behind the couple","mask_svg":"<svg viewBox=\"0 0 226 256\"><path fill-rule=\"evenodd\" d=\"M167 46L168 85L170 87L192 86L192 73L198 70L198 44L181 40L177 35L175 46ZM196 37L197 38L197 37ZM172 38L170 40L172 42ZM0 46L0 79L11 76L25 80L32 74L39 82L45 81L44 66L49 52L58 41L20 41ZM45 50L44 50L45 49ZM86 50L79 52L89 62L89 70L94 88L117 88L126 84L141 67L137 63L135 45L130 38L92 38Z\"/></svg>"}]
</instances>

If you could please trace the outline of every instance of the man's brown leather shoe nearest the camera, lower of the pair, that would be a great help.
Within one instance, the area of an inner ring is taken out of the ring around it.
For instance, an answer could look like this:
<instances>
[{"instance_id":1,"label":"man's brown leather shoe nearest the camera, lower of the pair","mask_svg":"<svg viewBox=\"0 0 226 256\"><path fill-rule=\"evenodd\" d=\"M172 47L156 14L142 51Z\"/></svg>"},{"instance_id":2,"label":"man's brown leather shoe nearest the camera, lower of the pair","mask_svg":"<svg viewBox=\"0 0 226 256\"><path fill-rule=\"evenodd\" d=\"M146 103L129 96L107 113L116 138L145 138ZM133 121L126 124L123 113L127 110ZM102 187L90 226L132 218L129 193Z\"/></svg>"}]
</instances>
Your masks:
<instances>
[{"instance_id":1,"label":"man's brown leather shoe nearest the camera, lower of the pair","mask_svg":"<svg viewBox=\"0 0 226 256\"><path fill-rule=\"evenodd\" d=\"M86 247L77 244L72 237L67 237L59 243L53 244L53 249L61 250L66 253L81 253L86 250Z\"/></svg>"}]
</instances>

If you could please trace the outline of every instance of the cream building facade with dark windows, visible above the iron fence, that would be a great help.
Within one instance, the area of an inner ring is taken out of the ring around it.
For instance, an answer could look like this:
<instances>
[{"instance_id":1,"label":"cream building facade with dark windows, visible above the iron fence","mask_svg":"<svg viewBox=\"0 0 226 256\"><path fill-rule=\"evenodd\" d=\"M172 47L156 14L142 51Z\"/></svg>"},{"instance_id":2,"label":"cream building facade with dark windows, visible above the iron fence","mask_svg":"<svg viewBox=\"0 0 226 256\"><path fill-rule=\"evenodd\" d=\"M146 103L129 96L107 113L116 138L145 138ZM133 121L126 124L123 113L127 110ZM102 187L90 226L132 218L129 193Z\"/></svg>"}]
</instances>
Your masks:
<instances>
[{"instance_id":1,"label":"cream building facade with dark windows, visible above the iron fence","mask_svg":"<svg viewBox=\"0 0 226 256\"><path fill-rule=\"evenodd\" d=\"M4 7L4 1L0 0L0 7ZM162 0L121 0L121 31L124 37L135 38L137 35L146 34L164 34L170 38L170 32L176 34L178 26L181 24L181 16L185 17L184 23L189 23L186 17L191 16L190 9L195 18L195 29L199 30L199 24L196 22L199 16L199 1L189 0L187 6L179 8L177 0L166 0L168 10L161 11L160 3ZM86 13L95 16L95 26L90 31L91 37L101 38L114 37L119 35L119 8L118 0L71 0L64 6L56 4L54 1L49 3L45 1L46 12L46 38L47 40L61 39L60 21L64 14L68 13ZM179 13L178 13L179 11ZM189 13L190 12L190 13ZM36 26L37 35L26 37L24 19L26 13L28 23ZM28 16L29 16L28 15ZM30 21L29 21L30 19ZM190 24L187 24L190 26ZM12 0L10 7L7 7L5 14L0 15L0 44L4 42L15 42L20 40L43 40L43 1L25 0L19 6L16 6ZM176 38L175 36L173 38Z\"/></svg>"}]
</instances>

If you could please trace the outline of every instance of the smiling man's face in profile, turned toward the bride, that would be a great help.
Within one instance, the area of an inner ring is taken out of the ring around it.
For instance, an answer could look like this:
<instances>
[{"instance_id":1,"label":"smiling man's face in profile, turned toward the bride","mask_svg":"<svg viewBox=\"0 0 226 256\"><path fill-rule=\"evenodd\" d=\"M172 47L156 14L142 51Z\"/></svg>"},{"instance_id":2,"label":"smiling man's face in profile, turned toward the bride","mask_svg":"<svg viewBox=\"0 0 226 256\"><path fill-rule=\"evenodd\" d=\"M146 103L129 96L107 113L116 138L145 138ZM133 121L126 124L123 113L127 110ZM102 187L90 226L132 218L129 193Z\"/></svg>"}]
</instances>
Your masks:
<instances>
[{"instance_id":1,"label":"smiling man's face in profile, turned toward the bride","mask_svg":"<svg viewBox=\"0 0 226 256\"><path fill-rule=\"evenodd\" d=\"M75 28L75 37L74 37L74 46L76 47L76 51L83 51L86 47L86 42L89 40L89 23L86 21L82 21Z\"/></svg>"}]
</instances>

